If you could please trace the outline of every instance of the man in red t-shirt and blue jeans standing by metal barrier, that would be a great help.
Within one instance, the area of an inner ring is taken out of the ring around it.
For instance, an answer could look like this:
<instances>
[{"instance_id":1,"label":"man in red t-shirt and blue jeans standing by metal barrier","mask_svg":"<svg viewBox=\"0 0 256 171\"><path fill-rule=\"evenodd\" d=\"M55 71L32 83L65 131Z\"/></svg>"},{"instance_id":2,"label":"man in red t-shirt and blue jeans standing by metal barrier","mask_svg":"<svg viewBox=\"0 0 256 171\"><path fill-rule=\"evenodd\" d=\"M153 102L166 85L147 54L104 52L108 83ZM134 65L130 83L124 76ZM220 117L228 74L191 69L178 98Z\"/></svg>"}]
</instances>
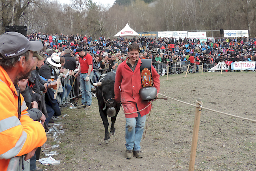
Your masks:
<instances>
[{"instance_id":1,"label":"man in red t-shirt and blue jeans standing by metal barrier","mask_svg":"<svg viewBox=\"0 0 256 171\"><path fill-rule=\"evenodd\" d=\"M76 53L80 56L80 68L76 73L76 77L80 74L80 89L82 93L82 105L78 106L78 108L87 108L91 107L91 83L90 79L92 79L92 70L93 70L93 57L83 51L82 48L78 48Z\"/></svg>"}]
</instances>

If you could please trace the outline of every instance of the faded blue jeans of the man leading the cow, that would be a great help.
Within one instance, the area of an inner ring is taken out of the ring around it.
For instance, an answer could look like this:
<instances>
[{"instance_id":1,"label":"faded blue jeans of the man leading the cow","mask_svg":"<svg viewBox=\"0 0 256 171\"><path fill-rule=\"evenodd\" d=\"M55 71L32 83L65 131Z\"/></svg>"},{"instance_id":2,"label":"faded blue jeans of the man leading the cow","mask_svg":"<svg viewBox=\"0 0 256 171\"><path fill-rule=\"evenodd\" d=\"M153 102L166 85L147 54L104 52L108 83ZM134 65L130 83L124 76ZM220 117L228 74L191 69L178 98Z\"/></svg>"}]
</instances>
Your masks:
<instances>
[{"instance_id":1,"label":"faded blue jeans of the man leading the cow","mask_svg":"<svg viewBox=\"0 0 256 171\"><path fill-rule=\"evenodd\" d=\"M125 125L125 140L126 140L126 149L138 151L141 150L142 134L145 127L146 115L141 117L141 114L138 112L137 118L126 118Z\"/></svg>"}]
</instances>

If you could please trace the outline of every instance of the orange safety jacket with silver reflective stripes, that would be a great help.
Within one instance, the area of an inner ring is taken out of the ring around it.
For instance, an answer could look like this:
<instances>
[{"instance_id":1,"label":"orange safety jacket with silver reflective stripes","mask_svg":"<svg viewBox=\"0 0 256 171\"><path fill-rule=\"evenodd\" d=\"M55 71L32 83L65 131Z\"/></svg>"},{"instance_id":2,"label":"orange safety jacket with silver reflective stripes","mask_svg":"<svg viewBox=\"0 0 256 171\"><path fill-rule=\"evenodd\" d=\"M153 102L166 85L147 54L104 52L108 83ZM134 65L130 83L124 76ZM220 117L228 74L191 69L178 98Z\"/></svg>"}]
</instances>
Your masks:
<instances>
[{"instance_id":1,"label":"orange safety jacket with silver reflective stripes","mask_svg":"<svg viewBox=\"0 0 256 171\"><path fill-rule=\"evenodd\" d=\"M19 94L4 68L0 66L0 170L6 171L15 156L28 154L46 142L43 125L33 121L24 97L21 99L21 116L18 116Z\"/></svg>"}]
</instances>

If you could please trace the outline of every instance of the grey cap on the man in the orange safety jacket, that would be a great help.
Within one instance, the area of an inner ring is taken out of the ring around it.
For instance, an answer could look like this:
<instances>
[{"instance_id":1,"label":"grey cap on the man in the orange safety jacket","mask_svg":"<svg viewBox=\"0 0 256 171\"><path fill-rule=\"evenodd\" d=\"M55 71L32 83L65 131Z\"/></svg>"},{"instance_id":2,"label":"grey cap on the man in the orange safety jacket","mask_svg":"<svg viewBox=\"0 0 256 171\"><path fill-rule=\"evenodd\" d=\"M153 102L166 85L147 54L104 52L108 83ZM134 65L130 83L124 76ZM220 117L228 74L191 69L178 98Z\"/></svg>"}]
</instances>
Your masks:
<instances>
[{"instance_id":1,"label":"grey cap on the man in the orange safety jacket","mask_svg":"<svg viewBox=\"0 0 256 171\"><path fill-rule=\"evenodd\" d=\"M0 60L17 57L26 51L43 49L41 41L29 41L24 35L10 31L0 35Z\"/></svg>"}]
</instances>

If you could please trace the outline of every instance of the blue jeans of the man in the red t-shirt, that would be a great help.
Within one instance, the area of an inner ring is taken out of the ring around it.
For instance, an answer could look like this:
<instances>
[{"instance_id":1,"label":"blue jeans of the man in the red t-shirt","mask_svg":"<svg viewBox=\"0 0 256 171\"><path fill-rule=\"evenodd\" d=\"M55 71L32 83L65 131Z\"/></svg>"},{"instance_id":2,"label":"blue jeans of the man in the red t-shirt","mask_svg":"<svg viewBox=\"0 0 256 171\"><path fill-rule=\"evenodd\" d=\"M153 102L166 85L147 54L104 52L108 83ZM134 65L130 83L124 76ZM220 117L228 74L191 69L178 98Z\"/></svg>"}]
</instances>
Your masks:
<instances>
[{"instance_id":1,"label":"blue jeans of the man in the red t-shirt","mask_svg":"<svg viewBox=\"0 0 256 171\"><path fill-rule=\"evenodd\" d=\"M92 79L92 75L90 75L90 79ZM80 90L82 93L82 105L91 106L91 83L89 81L85 81L87 73L80 74Z\"/></svg>"}]
</instances>

